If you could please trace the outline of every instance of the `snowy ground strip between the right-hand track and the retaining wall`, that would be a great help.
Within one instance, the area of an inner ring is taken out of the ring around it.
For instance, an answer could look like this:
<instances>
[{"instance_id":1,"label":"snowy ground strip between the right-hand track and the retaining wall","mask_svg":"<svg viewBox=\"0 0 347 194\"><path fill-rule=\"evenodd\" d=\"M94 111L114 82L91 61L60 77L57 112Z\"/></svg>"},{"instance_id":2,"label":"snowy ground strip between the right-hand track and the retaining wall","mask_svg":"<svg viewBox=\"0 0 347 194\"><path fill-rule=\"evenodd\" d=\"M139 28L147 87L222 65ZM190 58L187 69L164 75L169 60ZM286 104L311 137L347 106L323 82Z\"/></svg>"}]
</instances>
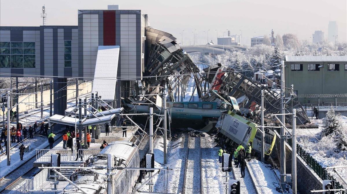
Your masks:
<instances>
[{"instance_id":1,"label":"snowy ground strip between the right-hand track and the retaining wall","mask_svg":"<svg viewBox=\"0 0 347 194\"><path fill-rule=\"evenodd\" d=\"M247 166L249 173L253 177L253 180L255 180L254 184L260 193L280 194L276 191L276 187L279 187L279 183L276 175L271 170L270 165L266 165L256 159L252 159L251 161L247 162Z\"/></svg>"}]
</instances>

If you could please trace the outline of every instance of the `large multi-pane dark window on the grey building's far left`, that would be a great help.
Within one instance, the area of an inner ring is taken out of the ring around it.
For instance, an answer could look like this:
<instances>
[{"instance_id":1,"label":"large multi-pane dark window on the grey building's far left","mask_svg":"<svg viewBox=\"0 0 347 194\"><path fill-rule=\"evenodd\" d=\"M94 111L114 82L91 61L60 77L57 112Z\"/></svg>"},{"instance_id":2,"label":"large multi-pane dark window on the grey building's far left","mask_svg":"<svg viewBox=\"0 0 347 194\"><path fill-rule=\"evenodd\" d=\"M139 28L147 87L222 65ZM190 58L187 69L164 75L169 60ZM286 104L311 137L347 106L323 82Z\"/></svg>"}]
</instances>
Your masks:
<instances>
[{"instance_id":1,"label":"large multi-pane dark window on the grey building's far left","mask_svg":"<svg viewBox=\"0 0 347 194\"><path fill-rule=\"evenodd\" d=\"M0 42L1 68L35 68L35 42Z\"/></svg>"}]
</instances>

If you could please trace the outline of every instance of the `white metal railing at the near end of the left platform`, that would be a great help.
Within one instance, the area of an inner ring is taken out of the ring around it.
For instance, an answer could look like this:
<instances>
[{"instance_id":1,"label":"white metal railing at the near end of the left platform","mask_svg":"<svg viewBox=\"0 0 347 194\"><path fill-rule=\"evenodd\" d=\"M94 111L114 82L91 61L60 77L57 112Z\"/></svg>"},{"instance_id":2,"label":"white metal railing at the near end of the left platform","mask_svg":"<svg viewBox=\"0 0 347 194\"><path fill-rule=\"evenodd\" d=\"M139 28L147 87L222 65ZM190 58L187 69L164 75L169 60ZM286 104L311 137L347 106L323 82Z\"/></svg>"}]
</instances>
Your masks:
<instances>
[{"instance_id":1,"label":"white metal railing at the near end of the left platform","mask_svg":"<svg viewBox=\"0 0 347 194\"><path fill-rule=\"evenodd\" d=\"M36 162L51 162L51 154L60 154L60 161L71 161L71 149L36 149Z\"/></svg>"}]
</instances>

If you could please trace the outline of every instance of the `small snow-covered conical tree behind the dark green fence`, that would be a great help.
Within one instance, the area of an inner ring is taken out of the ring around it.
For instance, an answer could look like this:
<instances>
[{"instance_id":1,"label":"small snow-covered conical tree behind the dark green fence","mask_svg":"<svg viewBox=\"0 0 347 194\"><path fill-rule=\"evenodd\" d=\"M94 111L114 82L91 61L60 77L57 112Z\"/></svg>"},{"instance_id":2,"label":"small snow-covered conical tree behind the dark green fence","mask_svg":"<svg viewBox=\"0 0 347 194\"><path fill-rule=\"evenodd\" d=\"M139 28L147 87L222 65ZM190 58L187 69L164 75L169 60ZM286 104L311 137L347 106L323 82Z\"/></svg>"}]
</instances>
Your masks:
<instances>
[{"instance_id":1,"label":"small snow-covered conical tree behind the dark green fence","mask_svg":"<svg viewBox=\"0 0 347 194\"><path fill-rule=\"evenodd\" d=\"M333 133L335 133L337 128L340 127L339 118L335 114L335 111L332 107L328 110L327 114L325 115L322 121L323 121L323 126L320 132L321 137L333 135Z\"/></svg>"}]
</instances>

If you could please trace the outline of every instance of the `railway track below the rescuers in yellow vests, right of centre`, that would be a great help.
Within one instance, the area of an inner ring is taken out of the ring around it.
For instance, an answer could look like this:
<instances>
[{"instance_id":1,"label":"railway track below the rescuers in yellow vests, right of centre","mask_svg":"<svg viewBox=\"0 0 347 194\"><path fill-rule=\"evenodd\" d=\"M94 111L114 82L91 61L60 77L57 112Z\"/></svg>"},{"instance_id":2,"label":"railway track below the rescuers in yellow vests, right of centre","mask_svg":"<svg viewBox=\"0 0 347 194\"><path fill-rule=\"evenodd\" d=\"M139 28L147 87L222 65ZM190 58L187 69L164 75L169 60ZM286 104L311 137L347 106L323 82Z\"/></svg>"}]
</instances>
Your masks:
<instances>
[{"instance_id":1,"label":"railway track below the rescuers in yellow vests, right of centre","mask_svg":"<svg viewBox=\"0 0 347 194\"><path fill-rule=\"evenodd\" d=\"M260 194L255 187L253 177L249 173L248 167L246 165L245 169L245 177L241 178L241 168L236 168L234 165L232 166L232 174L234 175L235 180L240 181L240 193L241 194Z\"/></svg>"}]
</instances>

